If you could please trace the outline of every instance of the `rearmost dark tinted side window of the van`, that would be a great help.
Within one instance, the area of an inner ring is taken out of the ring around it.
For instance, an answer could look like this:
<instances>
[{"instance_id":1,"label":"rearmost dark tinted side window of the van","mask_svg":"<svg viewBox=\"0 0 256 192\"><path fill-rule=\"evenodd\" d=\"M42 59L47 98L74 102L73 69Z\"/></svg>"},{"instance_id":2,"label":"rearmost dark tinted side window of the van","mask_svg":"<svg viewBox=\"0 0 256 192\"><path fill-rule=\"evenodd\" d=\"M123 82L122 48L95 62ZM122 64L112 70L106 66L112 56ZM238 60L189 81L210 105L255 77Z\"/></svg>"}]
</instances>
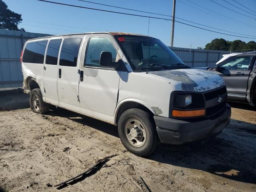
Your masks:
<instances>
[{"instance_id":1,"label":"rearmost dark tinted side window of the van","mask_svg":"<svg viewBox=\"0 0 256 192\"><path fill-rule=\"evenodd\" d=\"M43 64L47 42L48 40L29 42L24 50L22 62Z\"/></svg>"}]
</instances>

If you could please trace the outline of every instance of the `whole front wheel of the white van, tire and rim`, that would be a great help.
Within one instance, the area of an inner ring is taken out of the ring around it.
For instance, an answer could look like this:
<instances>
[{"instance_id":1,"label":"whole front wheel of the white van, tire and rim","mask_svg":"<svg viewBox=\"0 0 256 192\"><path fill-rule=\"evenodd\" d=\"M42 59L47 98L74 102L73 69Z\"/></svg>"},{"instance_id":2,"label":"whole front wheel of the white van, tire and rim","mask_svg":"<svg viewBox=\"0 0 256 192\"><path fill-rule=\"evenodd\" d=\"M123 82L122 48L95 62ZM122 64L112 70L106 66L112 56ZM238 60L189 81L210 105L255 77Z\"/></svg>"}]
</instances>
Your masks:
<instances>
[{"instance_id":1,"label":"whole front wheel of the white van, tire and rim","mask_svg":"<svg viewBox=\"0 0 256 192\"><path fill-rule=\"evenodd\" d=\"M141 109L128 109L118 120L118 134L124 147L138 156L148 156L158 145L151 115Z\"/></svg>"}]
</instances>

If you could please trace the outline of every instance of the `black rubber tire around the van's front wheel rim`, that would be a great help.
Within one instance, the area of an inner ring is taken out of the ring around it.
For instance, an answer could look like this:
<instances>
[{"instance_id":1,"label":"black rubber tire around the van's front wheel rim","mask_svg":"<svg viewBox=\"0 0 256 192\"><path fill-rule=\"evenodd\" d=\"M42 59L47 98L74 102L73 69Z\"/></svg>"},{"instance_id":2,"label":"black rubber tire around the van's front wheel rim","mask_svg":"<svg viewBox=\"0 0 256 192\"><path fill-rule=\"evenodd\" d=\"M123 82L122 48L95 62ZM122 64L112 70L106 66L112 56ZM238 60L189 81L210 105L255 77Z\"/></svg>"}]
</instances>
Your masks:
<instances>
[{"instance_id":1,"label":"black rubber tire around the van's front wheel rim","mask_svg":"<svg viewBox=\"0 0 256 192\"><path fill-rule=\"evenodd\" d=\"M142 146L133 146L126 136L126 123L131 120L138 120L146 131L146 140ZM138 156L148 156L154 152L159 144L156 126L152 116L141 109L128 109L118 120L118 134L124 147Z\"/></svg>"}]
</instances>

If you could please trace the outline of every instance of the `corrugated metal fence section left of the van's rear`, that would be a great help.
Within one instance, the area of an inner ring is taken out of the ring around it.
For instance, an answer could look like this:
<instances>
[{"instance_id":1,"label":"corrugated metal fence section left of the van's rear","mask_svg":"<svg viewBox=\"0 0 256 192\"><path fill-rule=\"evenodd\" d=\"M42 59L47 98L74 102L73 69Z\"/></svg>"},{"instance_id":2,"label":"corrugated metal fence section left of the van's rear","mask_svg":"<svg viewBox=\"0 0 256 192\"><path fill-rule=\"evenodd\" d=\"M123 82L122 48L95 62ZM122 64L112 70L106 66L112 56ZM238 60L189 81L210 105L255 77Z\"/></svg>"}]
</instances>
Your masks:
<instances>
[{"instance_id":1,"label":"corrugated metal fence section left of the van's rear","mask_svg":"<svg viewBox=\"0 0 256 192\"><path fill-rule=\"evenodd\" d=\"M0 29L0 88L22 86L20 53L28 39L48 34L9 31Z\"/></svg>"}]
</instances>

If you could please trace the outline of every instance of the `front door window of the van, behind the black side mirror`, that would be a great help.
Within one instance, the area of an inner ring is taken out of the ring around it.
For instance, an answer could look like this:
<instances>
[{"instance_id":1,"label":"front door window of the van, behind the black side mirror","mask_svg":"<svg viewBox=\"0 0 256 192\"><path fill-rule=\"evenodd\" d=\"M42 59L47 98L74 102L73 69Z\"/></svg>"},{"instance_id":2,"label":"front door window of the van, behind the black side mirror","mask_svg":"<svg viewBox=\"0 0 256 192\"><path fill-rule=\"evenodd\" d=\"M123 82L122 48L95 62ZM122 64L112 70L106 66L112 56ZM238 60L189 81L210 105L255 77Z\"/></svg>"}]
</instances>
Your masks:
<instances>
[{"instance_id":1,"label":"front door window of the van, behind the black side mirror","mask_svg":"<svg viewBox=\"0 0 256 192\"><path fill-rule=\"evenodd\" d=\"M100 53L107 51L112 53L112 62L116 61L116 49L112 42L105 37L92 37L89 40L85 58L86 66L100 66Z\"/></svg>"}]
</instances>

